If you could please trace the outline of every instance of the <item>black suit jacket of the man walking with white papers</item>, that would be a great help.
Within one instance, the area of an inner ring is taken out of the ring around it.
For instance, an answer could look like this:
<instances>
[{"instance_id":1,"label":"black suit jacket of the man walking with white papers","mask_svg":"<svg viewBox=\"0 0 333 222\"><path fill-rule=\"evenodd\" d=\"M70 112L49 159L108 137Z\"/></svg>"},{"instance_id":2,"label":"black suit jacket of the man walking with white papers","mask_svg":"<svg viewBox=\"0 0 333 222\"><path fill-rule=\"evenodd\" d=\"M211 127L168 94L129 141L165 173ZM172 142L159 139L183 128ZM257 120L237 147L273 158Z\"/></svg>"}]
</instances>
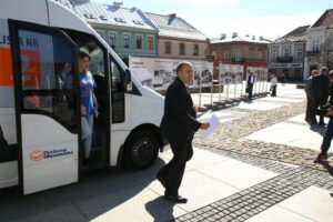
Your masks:
<instances>
[{"instance_id":1,"label":"black suit jacket of the man walking with white papers","mask_svg":"<svg viewBox=\"0 0 333 222\"><path fill-rule=\"evenodd\" d=\"M191 142L201 125L195 115L191 94L184 82L176 77L167 90L162 133L170 142Z\"/></svg>"}]
</instances>

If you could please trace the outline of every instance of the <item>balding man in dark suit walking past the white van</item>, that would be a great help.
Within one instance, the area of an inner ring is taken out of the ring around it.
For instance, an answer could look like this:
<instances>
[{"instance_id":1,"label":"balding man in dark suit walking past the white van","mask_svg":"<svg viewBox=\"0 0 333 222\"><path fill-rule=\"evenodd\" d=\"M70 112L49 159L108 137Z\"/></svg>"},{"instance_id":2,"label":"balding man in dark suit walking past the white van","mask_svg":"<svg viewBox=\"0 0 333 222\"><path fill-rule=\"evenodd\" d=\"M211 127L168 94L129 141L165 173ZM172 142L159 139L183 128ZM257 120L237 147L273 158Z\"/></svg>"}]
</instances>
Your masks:
<instances>
[{"instance_id":1,"label":"balding man in dark suit walking past the white van","mask_svg":"<svg viewBox=\"0 0 333 222\"><path fill-rule=\"evenodd\" d=\"M164 165L157 178L165 188L164 198L178 203L188 199L179 195L186 161L193 155L192 140L199 129L208 129L209 123L200 123L195 115L191 94L186 88L193 79L193 67L182 62L176 68L176 78L169 85L164 101L164 115L161 122L163 135L170 142L172 160Z\"/></svg>"}]
</instances>

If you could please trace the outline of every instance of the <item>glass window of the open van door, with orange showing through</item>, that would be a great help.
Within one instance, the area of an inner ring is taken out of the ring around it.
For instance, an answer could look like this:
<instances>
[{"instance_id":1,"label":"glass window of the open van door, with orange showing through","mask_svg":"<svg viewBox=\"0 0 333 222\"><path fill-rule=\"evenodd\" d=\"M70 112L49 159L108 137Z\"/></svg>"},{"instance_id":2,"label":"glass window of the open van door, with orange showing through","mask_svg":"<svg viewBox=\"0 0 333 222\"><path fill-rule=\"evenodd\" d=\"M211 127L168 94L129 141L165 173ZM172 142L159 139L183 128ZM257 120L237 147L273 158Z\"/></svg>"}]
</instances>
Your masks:
<instances>
[{"instance_id":1,"label":"glass window of the open van door, with orange showing through","mask_svg":"<svg viewBox=\"0 0 333 222\"><path fill-rule=\"evenodd\" d=\"M57 31L20 30L19 38L38 42L38 48L20 49L22 112L50 115L75 132L78 95L75 88L65 81L74 79L72 68L77 64L77 48Z\"/></svg>"}]
</instances>

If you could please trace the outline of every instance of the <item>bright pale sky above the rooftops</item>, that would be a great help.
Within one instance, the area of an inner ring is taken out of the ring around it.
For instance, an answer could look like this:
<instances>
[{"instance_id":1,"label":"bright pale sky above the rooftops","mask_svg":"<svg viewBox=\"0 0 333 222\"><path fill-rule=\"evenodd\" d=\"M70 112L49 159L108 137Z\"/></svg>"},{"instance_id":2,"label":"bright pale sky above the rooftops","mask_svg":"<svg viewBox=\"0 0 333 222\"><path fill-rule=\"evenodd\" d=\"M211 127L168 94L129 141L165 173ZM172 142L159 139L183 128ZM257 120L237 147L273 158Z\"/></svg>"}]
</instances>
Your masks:
<instances>
[{"instance_id":1,"label":"bright pale sky above the rooftops","mask_svg":"<svg viewBox=\"0 0 333 222\"><path fill-rule=\"evenodd\" d=\"M112 4L112 0L91 0ZM119 0L118 0L119 1ZM333 0L122 0L123 7L176 13L210 38L221 33L263 36L274 40L289 31L313 24Z\"/></svg>"}]
</instances>

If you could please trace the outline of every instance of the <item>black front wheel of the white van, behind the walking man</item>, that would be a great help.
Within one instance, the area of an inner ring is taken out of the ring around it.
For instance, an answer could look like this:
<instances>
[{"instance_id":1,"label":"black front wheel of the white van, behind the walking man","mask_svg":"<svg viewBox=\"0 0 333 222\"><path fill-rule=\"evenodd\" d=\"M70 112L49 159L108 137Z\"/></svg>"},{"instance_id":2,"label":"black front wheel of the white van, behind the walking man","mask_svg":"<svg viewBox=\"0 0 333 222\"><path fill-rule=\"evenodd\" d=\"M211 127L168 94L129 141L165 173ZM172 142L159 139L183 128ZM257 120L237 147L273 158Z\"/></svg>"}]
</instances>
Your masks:
<instances>
[{"instance_id":1,"label":"black front wheel of the white van, behind the walking man","mask_svg":"<svg viewBox=\"0 0 333 222\"><path fill-rule=\"evenodd\" d=\"M143 170L150 168L157 160L159 143L157 137L147 130L130 135L124 152L128 169Z\"/></svg>"}]
</instances>

